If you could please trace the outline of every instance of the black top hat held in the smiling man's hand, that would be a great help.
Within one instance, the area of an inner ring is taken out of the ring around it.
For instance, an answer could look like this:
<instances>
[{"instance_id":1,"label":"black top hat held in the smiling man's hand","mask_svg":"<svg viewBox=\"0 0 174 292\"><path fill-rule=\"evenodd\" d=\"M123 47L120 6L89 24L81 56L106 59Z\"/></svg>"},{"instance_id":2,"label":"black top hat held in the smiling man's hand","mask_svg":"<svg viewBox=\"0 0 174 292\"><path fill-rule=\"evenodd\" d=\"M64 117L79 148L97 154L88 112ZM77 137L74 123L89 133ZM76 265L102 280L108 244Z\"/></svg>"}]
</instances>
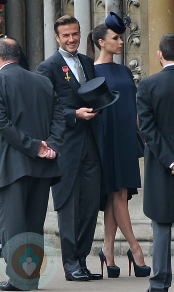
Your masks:
<instances>
[{"instance_id":1,"label":"black top hat held in the smiling man's hand","mask_svg":"<svg viewBox=\"0 0 174 292\"><path fill-rule=\"evenodd\" d=\"M105 77L96 77L84 83L78 93L93 108L93 112L111 106L119 98L118 91L111 91Z\"/></svg>"}]
</instances>

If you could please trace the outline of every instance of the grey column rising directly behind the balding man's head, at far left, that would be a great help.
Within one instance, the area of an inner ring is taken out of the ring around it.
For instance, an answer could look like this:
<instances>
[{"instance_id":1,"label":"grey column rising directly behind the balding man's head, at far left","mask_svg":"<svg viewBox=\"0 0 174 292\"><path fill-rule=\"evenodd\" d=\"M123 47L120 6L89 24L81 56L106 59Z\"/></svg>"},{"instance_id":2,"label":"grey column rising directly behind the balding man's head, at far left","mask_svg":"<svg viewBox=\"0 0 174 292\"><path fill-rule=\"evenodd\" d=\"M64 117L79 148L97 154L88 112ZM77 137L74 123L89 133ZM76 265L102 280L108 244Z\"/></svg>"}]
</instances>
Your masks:
<instances>
[{"instance_id":1,"label":"grey column rising directly behind the balding man's head, at far left","mask_svg":"<svg viewBox=\"0 0 174 292\"><path fill-rule=\"evenodd\" d=\"M15 37L25 52L25 4L23 1L8 1L5 5L5 34Z\"/></svg>"}]
</instances>

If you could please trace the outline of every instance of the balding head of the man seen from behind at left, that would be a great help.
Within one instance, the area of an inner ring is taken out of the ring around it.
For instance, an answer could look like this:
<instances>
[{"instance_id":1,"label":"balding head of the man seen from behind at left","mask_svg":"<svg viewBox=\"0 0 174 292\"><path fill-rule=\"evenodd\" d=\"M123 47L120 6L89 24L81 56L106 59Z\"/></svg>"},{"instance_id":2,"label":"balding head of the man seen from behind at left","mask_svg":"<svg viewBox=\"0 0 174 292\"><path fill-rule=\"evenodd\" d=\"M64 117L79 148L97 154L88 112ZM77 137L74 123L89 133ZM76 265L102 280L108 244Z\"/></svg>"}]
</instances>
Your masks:
<instances>
[{"instance_id":1,"label":"balding head of the man seen from behind at left","mask_svg":"<svg viewBox=\"0 0 174 292\"><path fill-rule=\"evenodd\" d=\"M19 44L10 37L0 38L0 59L3 62L18 62L20 57Z\"/></svg>"}]
</instances>

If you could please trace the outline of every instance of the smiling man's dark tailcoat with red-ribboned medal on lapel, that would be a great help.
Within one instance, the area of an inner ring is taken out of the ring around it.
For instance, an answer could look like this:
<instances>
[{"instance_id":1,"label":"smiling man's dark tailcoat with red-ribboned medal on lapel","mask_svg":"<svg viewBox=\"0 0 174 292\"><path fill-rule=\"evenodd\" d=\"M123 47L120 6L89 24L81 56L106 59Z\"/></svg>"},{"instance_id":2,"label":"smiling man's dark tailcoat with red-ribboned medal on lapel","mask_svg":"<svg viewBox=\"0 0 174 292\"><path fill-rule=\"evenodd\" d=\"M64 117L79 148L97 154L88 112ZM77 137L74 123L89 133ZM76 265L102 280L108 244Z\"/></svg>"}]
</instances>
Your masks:
<instances>
[{"instance_id":1,"label":"smiling man's dark tailcoat with red-ribboned medal on lapel","mask_svg":"<svg viewBox=\"0 0 174 292\"><path fill-rule=\"evenodd\" d=\"M95 72L92 59L82 54L79 54L78 57L83 67L86 81L94 78ZM68 74L71 78L69 81L65 79L66 73L63 72L63 66L66 65L62 55L56 51L54 55L43 61L37 69L37 73L47 76L52 81L66 119L65 143L61 151L62 155L58 158L63 176L61 182L52 188L55 210L58 210L63 205L71 193L79 169L86 131L89 126L92 128L96 138L95 118L90 121L76 120L76 110L87 106L78 94L80 84L70 69Z\"/></svg>"}]
</instances>

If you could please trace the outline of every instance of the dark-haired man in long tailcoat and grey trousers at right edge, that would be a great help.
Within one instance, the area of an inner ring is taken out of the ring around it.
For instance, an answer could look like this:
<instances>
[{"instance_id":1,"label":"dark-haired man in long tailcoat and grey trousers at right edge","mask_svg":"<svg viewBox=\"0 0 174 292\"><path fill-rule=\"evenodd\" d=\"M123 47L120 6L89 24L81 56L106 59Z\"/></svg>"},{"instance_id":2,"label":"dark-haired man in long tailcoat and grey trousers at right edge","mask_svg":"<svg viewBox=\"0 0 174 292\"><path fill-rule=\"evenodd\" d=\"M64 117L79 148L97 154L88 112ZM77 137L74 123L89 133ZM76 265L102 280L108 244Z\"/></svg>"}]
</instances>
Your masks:
<instances>
[{"instance_id":1,"label":"dark-haired man in long tailcoat and grey trousers at right edge","mask_svg":"<svg viewBox=\"0 0 174 292\"><path fill-rule=\"evenodd\" d=\"M153 272L149 292L167 292L172 282L174 222L174 33L164 35L158 58L163 70L139 83L139 123L144 152L144 214L152 219Z\"/></svg>"}]
</instances>

